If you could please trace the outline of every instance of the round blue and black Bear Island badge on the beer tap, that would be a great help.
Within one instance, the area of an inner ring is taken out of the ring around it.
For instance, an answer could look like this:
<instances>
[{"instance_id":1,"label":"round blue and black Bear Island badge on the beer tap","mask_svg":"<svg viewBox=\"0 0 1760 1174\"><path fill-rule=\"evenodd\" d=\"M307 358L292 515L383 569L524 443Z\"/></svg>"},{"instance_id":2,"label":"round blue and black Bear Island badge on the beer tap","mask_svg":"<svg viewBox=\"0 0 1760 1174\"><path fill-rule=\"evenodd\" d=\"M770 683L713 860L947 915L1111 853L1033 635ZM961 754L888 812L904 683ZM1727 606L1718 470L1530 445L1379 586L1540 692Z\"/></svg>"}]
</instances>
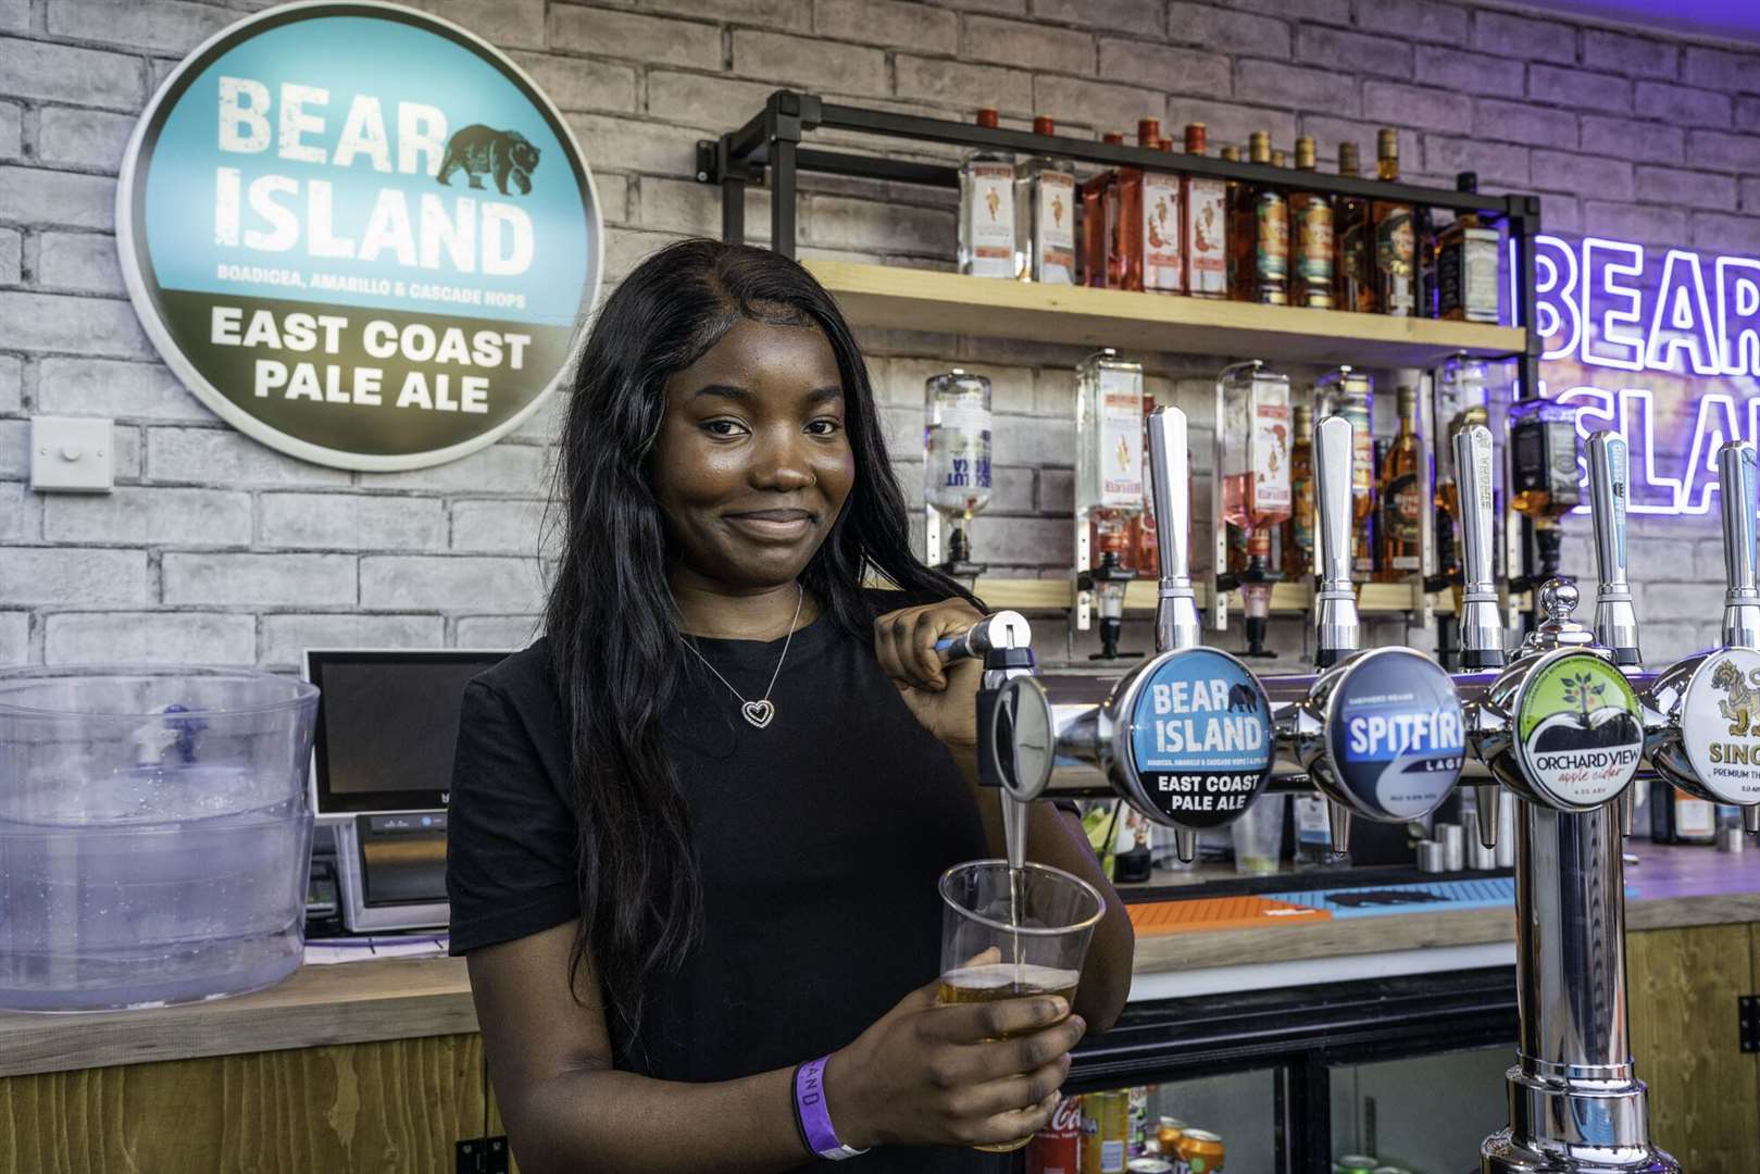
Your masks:
<instances>
[{"instance_id":1,"label":"round blue and black Bear Island badge on the beer tap","mask_svg":"<svg viewBox=\"0 0 1760 1174\"><path fill-rule=\"evenodd\" d=\"M1246 667L1214 648L1165 653L1137 683L1130 752L1142 796L1184 827L1246 811L1271 778L1271 706Z\"/></svg>"}]
</instances>

